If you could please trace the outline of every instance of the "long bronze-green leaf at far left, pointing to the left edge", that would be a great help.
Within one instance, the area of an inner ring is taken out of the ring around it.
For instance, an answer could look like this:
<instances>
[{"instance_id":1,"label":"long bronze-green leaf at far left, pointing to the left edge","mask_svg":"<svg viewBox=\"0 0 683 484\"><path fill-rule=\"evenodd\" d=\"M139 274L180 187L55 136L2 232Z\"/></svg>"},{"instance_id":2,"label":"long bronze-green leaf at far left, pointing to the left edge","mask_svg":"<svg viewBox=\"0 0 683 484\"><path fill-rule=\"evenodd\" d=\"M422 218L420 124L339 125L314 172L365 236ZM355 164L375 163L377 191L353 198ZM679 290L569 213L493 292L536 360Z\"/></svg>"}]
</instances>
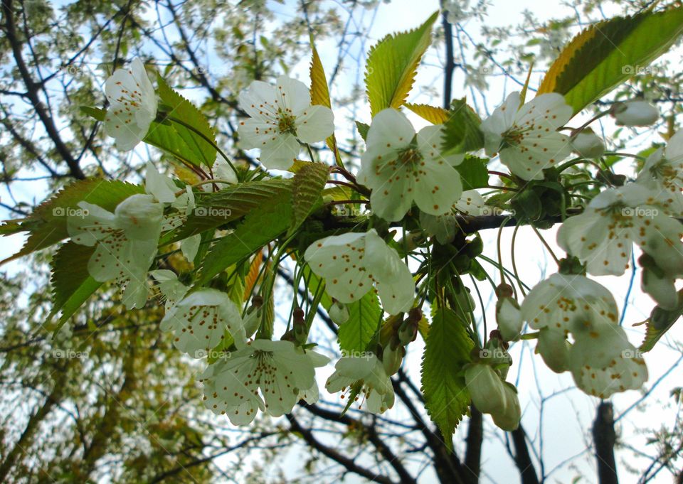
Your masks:
<instances>
[{"instance_id":1,"label":"long bronze-green leaf at far left, pointing to the left edge","mask_svg":"<svg viewBox=\"0 0 683 484\"><path fill-rule=\"evenodd\" d=\"M78 203L85 201L113 212L116 206L130 195L144 193L144 187L122 181L105 181L95 178L79 180L67 185L52 198L41 203L23 220L8 224L4 233L30 232L22 249L0 264L45 249L69 236L67 215L78 214ZM11 229L9 229L11 227Z\"/></svg>"}]
</instances>

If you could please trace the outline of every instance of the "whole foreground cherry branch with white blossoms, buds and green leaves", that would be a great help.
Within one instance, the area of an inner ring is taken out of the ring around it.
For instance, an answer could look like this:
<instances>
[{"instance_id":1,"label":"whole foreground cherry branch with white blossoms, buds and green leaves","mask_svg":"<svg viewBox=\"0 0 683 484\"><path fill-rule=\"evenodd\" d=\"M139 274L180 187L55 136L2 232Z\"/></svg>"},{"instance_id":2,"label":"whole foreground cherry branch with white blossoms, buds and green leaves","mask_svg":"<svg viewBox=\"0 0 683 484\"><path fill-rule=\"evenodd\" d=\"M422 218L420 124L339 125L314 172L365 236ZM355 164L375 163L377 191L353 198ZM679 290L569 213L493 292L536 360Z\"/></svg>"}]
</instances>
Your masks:
<instances>
[{"instance_id":1,"label":"whole foreground cherry branch with white blossoms, buds and green leaves","mask_svg":"<svg viewBox=\"0 0 683 484\"><path fill-rule=\"evenodd\" d=\"M593 124L649 126L657 109L634 97L578 115L628 80L624 65L646 66L677 40L683 9L587 28L539 86L527 79L485 119L465 98L450 109L406 103L436 18L370 50L370 124L335 117L313 41L309 85L286 76L252 82L238 103L238 146L258 150L260 161L248 166L142 60L113 72L107 106L83 113L117 149L144 143L172 162L147 163L144 185L76 181L5 222L4 234L28 232L10 259L61 244L52 263L55 332L105 284L129 310L163 301L159 330L203 360L204 403L235 425L317 401L316 368L329 362L309 337L317 311L339 326L342 358L324 387L346 408L391 409L391 376L422 338L425 407L447 441L470 404L501 429L517 428L507 350L522 338L587 394L639 389L643 354L683 312L683 132L646 157L615 154ZM605 42L617 30L618 43ZM428 126L416 130L406 112ZM359 163L335 138L352 129L365 141ZM639 170L615 174L613 158L626 156ZM556 224L561 254L540 232ZM500 236L498 260L482 254L480 230L511 225L530 226L557 264L530 289L515 264L502 264ZM600 283L624 274L633 250L652 298L639 347ZM186 270L164 264L175 252ZM287 328L276 332L284 266L293 267L294 294ZM497 296L495 324L476 297L480 284Z\"/></svg>"}]
</instances>

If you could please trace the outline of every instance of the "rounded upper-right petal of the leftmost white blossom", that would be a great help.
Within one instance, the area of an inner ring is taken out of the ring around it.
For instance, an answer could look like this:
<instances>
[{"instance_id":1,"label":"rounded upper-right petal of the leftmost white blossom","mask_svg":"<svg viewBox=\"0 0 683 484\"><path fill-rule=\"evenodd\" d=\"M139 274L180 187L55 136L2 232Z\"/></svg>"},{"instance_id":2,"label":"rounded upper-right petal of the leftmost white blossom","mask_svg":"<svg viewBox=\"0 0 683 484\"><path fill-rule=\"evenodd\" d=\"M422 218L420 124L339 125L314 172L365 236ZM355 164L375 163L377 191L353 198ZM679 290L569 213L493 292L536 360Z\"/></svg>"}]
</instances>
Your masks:
<instances>
[{"instance_id":1,"label":"rounded upper-right petal of the leftmost white blossom","mask_svg":"<svg viewBox=\"0 0 683 484\"><path fill-rule=\"evenodd\" d=\"M154 202L152 195L131 195L117 205L114 213L117 227L129 239L148 240L159 237L164 205Z\"/></svg>"}]
</instances>

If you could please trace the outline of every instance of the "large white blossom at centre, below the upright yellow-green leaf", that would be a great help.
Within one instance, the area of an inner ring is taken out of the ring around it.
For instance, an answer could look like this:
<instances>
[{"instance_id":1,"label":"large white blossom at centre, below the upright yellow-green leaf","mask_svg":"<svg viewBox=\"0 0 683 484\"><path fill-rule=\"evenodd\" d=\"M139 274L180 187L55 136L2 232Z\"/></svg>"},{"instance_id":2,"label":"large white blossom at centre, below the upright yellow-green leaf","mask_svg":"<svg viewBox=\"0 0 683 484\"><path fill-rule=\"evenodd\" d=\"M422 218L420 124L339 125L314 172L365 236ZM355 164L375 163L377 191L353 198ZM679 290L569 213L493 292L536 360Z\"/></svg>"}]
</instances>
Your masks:
<instances>
[{"instance_id":1,"label":"large white blossom at centre, below the upright yellow-green leaf","mask_svg":"<svg viewBox=\"0 0 683 484\"><path fill-rule=\"evenodd\" d=\"M453 166L464 155L442 156L441 126L415 129L396 109L378 112L361 156L360 183L372 189L371 208L384 220L401 220L415 202L420 211L441 215L462 194L460 174Z\"/></svg>"}]
</instances>

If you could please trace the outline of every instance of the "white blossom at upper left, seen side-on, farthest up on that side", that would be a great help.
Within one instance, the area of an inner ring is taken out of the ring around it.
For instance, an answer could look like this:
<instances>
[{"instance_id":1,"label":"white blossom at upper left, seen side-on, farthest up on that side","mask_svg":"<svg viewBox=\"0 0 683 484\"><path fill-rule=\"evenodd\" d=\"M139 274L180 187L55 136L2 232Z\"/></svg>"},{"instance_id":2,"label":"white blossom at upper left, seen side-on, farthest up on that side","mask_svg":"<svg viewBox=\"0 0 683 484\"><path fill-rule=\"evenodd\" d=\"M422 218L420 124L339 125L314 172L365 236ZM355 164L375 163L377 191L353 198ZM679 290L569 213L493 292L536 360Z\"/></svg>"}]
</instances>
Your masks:
<instances>
[{"instance_id":1,"label":"white blossom at upper left, seen side-on, farthest up on that side","mask_svg":"<svg viewBox=\"0 0 683 484\"><path fill-rule=\"evenodd\" d=\"M157 117L157 96L142 60L134 58L127 69L117 69L105 82L110 107L105 115L105 133L122 151L132 150Z\"/></svg>"}]
</instances>

